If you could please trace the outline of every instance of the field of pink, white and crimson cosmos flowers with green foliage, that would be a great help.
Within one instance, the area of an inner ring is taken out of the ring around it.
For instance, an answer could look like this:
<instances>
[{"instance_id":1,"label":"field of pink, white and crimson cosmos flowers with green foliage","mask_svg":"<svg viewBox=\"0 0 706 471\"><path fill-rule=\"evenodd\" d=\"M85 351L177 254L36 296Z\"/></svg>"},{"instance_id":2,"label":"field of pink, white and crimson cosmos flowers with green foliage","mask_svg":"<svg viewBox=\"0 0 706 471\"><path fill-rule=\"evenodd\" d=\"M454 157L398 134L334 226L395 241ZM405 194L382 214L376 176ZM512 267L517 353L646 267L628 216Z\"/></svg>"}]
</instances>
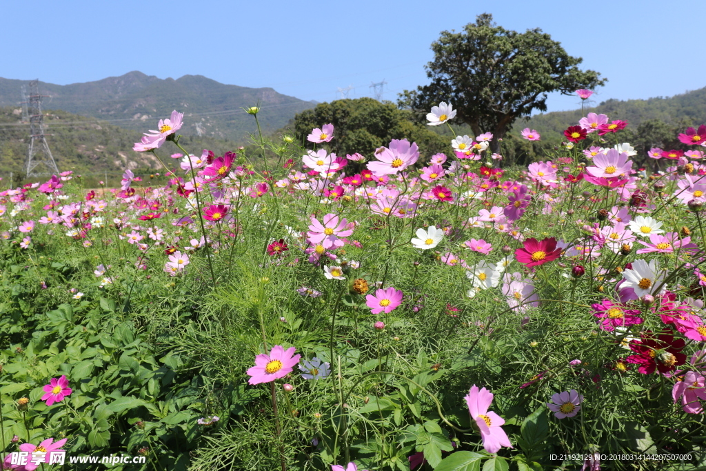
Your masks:
<instances>
[{"instance_id":1,"label":"field of pink, white and crimson cosmos flowers with green foliage","mask_svg":"<svg viewBox=\"0 0 706 471\"><path fill-rule=\"evenodd\" d=\"M152 179L0 192L2 469L706 469L706 126L638 156L589 113L503 168L491 133L220 156L183 119Z\"/></svg>"}]
</instances>

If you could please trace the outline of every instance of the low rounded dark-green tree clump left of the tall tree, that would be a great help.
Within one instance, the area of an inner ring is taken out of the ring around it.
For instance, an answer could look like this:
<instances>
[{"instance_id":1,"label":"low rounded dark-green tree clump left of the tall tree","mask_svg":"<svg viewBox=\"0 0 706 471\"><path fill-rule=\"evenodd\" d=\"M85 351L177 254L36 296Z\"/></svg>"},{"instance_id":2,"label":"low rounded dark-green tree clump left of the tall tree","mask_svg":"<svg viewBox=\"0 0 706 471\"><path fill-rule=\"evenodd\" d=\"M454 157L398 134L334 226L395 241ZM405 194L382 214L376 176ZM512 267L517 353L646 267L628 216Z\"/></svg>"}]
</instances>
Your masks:
<instances>
[{"instance_id":1,"label":"low rounded dark-green tree clump left of the tall tree","mask_svg":"<svg viewBox=\"0 0 706 471\"><path fill-rule=\"evenodd\" d=\"M445 138L415 123L411 112L367 97L335 100L305 109L294 117L294 132L299 142L306 143L311 129L328 123L333 124L335 136L328 144L336 155L360 153L371 159L377 148L403 138L416 142L422 155L451 150Z\"/></svg>"}]
</instances>

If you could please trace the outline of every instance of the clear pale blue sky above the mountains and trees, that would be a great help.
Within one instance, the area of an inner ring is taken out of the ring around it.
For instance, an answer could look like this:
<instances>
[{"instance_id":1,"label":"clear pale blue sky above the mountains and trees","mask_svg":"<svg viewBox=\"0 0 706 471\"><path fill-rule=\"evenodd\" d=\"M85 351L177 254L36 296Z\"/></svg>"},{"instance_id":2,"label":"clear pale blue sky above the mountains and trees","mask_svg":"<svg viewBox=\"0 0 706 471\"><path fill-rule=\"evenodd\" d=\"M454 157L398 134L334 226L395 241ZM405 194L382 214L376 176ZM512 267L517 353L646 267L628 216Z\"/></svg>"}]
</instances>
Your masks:
<instances>
[{"instance_id":1,"label":"clear pale blue sky above the mountains and trees","mask_svg":"<svg viewBox=\"0 0 706 471\"><path fill-rule=\"evenodd\" d=\"M706 86L706 2L618 1L1 1L0 76L65 85L139 70L272 87L302 100L383 99L427 83L443 30L491 13L509 30L541 28L609 79L596 102L671 96ZM43 33L43 34L42 34ZM9 40L8 40L9 37ZM580 107L551 95L549 111Z\"/></svg>"}]
</instances>

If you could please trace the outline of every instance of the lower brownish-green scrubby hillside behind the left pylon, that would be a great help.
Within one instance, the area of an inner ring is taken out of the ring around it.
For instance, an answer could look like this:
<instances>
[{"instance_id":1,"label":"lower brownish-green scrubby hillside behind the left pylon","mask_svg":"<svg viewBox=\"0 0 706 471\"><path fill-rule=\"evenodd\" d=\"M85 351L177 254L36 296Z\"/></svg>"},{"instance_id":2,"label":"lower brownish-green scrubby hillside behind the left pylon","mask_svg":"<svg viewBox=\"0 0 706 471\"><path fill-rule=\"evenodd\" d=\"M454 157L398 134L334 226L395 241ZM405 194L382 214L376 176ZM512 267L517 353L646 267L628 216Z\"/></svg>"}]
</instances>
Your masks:
<instances>
[{"instance_id":1,"label":"lower brownish-green scrubby hillside behind the left pylon","mask_svg":"<svg viewBox=\"0 0 706 471\"><path fill-rule=\"evenodd\" d=\"M23 176L23 165L27 158L30 126L20 123L20 109L0 107L0 177L5 187L12 172L13 182ZM64 111L44 113L44 132L47 143L60 172L73 170L83 175L85 184L96 186L97 181L107 180L110 186L119 184L125 169L131 169L143 178L159 172L164 174L160 163L150 153L133 152L133 143L139 140L141 133L123 129L104 121L81 117ZM181 145L191 153L200 154L201 150L213 150L222 155L228 150L237 150L240 145L234 141L216 139L208 136L184 136ZM172 143L165 143L157 154L164 165L176 168L178 160L169 158L179 150ZM45 172L44 168L37 169ZM37 181L42 178L34 178ZM29 181L29 180L25 180Z\"/></svg>"}]
</instances>

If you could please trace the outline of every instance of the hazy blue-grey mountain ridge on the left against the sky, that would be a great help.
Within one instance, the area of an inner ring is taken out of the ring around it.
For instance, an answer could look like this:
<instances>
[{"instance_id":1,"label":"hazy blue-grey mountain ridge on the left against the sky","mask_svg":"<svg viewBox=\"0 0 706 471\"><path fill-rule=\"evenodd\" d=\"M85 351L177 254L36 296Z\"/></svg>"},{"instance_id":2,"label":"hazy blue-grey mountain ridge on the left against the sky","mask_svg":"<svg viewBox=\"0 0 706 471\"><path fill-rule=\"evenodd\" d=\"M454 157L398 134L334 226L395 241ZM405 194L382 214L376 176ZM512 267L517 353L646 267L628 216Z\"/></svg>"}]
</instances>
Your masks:
<instances>
[{"instance_id":1,"label":"hazy blue-grey mountain ridge on the left against the sky","mask_svg":"<svg viewBox=\"0 0 706 471\"><path fill-rule=\"evenodd\" d=\"M28 81L0 78L0 107L18 107L20 88ZM157 121L169 117L173 109L184 112L185 136L209 136L245 141L256 131L255 120L241 108L258 102L263 132L282 128L294 114L314 107L295 97L277 93L272 88L246 88L224 85L203 76L160 79L133 71L100 81L54 85L40 81L42 107L104 119L124 129L146 132Z\"/></svg>"}]
</instances>

